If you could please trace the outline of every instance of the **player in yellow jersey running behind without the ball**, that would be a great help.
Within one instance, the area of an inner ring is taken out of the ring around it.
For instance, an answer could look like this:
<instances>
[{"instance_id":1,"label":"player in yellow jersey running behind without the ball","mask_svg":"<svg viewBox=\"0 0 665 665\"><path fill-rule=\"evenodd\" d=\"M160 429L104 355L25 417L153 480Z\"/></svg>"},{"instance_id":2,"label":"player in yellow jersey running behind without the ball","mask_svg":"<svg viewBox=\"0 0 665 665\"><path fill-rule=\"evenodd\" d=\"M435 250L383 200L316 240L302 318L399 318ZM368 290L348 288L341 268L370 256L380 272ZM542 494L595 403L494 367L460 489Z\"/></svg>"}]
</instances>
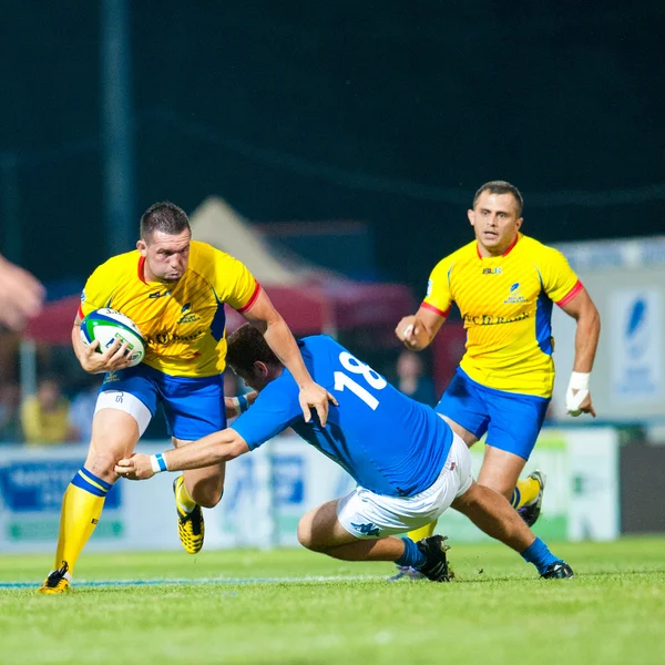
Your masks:
<instances>
[{"instance_id":1,"label":"player in yellow jersey running behind without the ball","mask_svg":"<svg viewBox=\"0 0 665 665\"><path fill-rule=\"evenodd\" d=\"M396 335L409 349L426 348L457 304L467 350L436 410L469 447L487 432L478 482L507 497L531 526L540 515L544 474L518 479L552 397L552 305L577 321L566 395L571 416L595 417L589 379L601 320L565 257L520 233L522 207L510 183L478 190L468 212L475 241L437 264L422 305L399 321ZM434 525L409 535L417 541Z\"/></svg>"}]
</instances>

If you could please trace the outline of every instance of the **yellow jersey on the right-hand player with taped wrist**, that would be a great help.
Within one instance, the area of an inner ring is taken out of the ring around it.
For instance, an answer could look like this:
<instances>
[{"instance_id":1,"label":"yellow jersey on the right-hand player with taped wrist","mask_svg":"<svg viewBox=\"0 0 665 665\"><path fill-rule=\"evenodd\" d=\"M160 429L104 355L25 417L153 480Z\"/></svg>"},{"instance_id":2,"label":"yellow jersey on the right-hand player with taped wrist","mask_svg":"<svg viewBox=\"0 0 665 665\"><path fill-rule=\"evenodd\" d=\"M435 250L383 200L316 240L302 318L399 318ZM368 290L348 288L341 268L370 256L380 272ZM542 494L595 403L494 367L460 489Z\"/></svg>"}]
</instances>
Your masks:
<instances>
[{"instance_id":1,"label":"yellow jersey on the right-hand player with taped wrist","mask_svg":"<svg viewBox=\"0 0 665 665\"><path fill-rule=\"evenodd\" d=\"M563 254L518 234L502 256L481 257L473 241L439 262L422 307L447 317L457 304L467 329L460 367L471 379L549 398L552 304L565 305L581 289Z\"/></svg>"}]
</instances>

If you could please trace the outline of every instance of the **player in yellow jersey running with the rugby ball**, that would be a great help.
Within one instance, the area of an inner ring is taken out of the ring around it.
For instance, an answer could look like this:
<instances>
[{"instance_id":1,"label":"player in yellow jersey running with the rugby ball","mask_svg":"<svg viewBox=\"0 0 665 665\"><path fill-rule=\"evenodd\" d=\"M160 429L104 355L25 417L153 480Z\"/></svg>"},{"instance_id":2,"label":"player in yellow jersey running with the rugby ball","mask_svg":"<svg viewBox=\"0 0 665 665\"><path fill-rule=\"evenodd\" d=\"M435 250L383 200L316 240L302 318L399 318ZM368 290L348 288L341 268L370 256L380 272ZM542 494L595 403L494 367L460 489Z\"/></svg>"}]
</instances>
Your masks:
<instances>
[{"instance_id":1,"label":"player in yellow jersey running with the rugby ball","mask_svg":"<svg viewBox=\"0 0 665 665\"><path fill-rule=\"evenodd\" d=\"M81 295L72 345L85 371L106 376L88 458L64 493L55 563L42 593L69 590L74 564L119 478L114 466L131 454L158 405L176 448L226 427L227 409L235 412L237 403L224 399L225 304L255 326L289 368L306 421L313 407L325 424L328 400L337 403L311 379L288 326L249 270L193 241L180 207L168 202L152 205L141 217L140 233L136 249L98 267ZM141 329L146 354L136 367L127 366L126 344L116 342L102 354L99 342L83 345L81 321L102 307L122 311ZM187 552L203 545L201 507L212 508L222 498L224 471L224 463L185 471L174 483L178 534Z\"/></svg>"}]
</instances>

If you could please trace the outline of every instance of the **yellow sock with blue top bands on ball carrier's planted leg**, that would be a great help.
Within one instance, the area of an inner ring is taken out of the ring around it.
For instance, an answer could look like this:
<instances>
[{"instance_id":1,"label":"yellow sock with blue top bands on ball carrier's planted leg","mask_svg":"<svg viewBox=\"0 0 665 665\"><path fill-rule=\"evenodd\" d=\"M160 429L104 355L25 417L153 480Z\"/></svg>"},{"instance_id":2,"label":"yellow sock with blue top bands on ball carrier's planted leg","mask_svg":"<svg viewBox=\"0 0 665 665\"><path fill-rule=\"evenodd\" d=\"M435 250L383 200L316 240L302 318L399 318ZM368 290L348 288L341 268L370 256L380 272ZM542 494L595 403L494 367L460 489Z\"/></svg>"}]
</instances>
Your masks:
<instances>
[{"instance_id":1,"label":"yellow sock with blue top bands on ball carrier's planted leg","mask_svg":"<svg viewBox=\"0 0 665 665\"><path fill-rule=\"evenodd\" d=\"M66 562L71 575L88 539L100 521L104 499L111 487L111 483L93 475L84 467L74 475L62 499L53 570Z\"/></svg>"}]
</instances>

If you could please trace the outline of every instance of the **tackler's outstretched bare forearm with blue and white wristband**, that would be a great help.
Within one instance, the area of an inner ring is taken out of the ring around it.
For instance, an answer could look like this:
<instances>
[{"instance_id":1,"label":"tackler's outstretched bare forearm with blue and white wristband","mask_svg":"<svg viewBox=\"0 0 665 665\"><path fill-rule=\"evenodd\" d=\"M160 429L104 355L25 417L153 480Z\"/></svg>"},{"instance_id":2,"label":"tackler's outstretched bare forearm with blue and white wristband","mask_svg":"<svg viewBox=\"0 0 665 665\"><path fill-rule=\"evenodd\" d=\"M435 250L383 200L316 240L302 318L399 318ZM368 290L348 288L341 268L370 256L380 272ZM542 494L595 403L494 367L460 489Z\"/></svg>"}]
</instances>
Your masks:
<instances>
[{"instance_id":1,"label":"tackler's outstretched bare forearm with blue and white wristband","mask_svg":"<svg viewBox=\"0 0 665 665\"><path fill-rule=\"evenodd\" d=\"M115 472L130 480L145 480L160 471L186 471L213 467L219 462L235 460L245 452L249 452L245 439L234 429L226 428L187 446L167 450L162 453L162 460L158 460L160 456L133 454L131 458L120 460L115 466Z\"/></svg>"}]
</instances>

